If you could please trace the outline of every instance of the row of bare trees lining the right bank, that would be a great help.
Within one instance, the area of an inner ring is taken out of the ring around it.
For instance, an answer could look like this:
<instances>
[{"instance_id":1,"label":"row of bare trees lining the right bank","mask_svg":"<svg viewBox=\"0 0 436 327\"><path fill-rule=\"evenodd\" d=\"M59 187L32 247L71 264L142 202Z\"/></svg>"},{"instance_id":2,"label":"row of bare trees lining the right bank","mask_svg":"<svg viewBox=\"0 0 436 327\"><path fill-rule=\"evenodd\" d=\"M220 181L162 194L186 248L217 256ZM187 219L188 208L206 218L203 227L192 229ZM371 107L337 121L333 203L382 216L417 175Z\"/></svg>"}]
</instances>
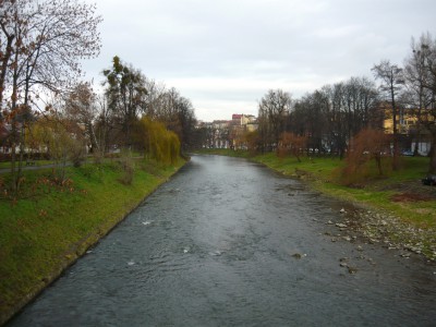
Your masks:
<instances>
[{"instance_id":1,"label":"row of bare trees lining the right bank","mask_svg":"<svg viewBox=\"0 0 436 327\"><path fill-rule=\"evenodd\" d=\"M414 155L426 138L431 143L429 172L436 173L436 39L428 33L419 40L412 38L402 66L382 60L372 73L374 80L351 77L300 99L282 89L268 90L258 102L258 130L247 135L249 146L261 152L343 157L361 132L384 131L385 119L390 119L392 131L384 137L384 152L391 154L392 169L399 168L399 155L411 147L411 138ZM404 118L413 121L408 142L400 129Z\"/></svg>"}]
</instances>

